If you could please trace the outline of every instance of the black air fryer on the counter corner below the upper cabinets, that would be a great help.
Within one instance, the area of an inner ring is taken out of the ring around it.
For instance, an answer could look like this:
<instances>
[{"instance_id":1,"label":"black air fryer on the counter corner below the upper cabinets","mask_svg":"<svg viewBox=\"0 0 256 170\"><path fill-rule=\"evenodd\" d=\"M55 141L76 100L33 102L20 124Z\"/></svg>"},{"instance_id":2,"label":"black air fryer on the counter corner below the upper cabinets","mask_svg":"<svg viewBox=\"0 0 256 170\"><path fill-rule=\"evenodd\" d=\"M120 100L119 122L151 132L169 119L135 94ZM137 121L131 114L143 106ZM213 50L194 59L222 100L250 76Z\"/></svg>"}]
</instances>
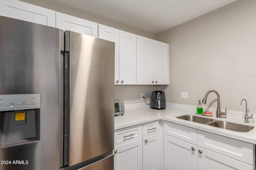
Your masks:
<instances>
[{"instance_id":1,"label":"black air fryer on the counter corner below the upper cabinets","mask_svg":"<svg viewBox=\"0 0 256 170\"><path fill-rule=\"evenodd\" d=\"M162 92L162 91L152 92L150 108L151 109L165 109L166 108L166 100L165 100L164 92Z\"/></svg>"}]
</instances>

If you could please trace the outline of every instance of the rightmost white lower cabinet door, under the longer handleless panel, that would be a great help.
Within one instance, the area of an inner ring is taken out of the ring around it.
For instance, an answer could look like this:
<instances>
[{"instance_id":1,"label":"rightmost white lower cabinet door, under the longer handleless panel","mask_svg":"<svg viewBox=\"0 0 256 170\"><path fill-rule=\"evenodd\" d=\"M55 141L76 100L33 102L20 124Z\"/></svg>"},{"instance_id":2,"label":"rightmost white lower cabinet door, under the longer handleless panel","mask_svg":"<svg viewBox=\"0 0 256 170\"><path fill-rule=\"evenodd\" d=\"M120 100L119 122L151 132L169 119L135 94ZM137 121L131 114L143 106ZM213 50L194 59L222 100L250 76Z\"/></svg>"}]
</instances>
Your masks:
<instances>
[{"instance_id":1,"label":"rightmost white lower cabinet door, under the longer handleless panel","mask_svg":"<svg viewBox=\"0 0 256 170\"><path fill-rule=\"evenodd\" d=\"M253 170L253 166L198 147L198 170Z\"/></svg>"}]
</instances>

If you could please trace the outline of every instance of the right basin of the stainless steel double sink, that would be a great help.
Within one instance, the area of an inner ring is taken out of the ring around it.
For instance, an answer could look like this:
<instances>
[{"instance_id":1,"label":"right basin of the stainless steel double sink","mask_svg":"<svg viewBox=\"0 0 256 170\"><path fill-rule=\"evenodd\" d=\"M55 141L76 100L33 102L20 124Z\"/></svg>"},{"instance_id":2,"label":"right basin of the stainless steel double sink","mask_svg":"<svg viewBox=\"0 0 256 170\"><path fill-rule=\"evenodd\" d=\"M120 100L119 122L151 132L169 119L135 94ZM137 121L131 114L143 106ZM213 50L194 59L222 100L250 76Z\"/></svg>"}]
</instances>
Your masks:
<instances>
[{"instance_id":1,"label":"right basin of the stainless steel double sink","mask_svg":"<svg viewBox=\"0 0 256 170\"><path fill-rule=\"evenodd\" d=\"M254 126L250 125L243 125L238 123L232 123L228 121L212 121L211 123L208 123L207 125L219 127L222 129L228 129L230 131L236 131L236 132L248 132L251 131Z\"/></svg>"}]
</instances>

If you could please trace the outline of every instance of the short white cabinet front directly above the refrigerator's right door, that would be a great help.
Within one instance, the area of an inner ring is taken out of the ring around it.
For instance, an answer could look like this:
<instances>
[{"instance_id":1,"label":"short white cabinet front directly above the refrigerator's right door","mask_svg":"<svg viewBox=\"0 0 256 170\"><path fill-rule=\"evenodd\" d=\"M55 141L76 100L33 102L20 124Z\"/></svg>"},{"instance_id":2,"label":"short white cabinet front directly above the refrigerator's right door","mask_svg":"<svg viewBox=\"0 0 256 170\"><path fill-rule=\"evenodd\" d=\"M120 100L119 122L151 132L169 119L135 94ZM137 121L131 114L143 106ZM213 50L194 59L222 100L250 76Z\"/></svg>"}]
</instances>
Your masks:
<instances>
[{"instance_id":1,"label":"short white cabinet front directly above the refrigerator's right door","mask_svg":"<svg viewBox=\"0 0 256 170\"><path fill-rule=\"evenodd\" d=\"M98 37L98 23L56 12L56 28Z\"/></svg>"}]
</instances>

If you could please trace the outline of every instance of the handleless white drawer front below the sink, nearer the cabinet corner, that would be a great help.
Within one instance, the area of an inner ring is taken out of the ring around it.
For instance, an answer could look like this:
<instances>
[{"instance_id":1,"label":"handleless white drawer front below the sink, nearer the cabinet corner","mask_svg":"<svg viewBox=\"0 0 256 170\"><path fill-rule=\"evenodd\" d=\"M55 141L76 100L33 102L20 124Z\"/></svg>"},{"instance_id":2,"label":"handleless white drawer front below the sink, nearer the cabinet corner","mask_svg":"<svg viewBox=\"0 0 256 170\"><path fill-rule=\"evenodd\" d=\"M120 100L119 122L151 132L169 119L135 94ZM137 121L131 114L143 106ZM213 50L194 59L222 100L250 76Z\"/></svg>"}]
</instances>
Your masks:
<instances>
[{"instance_id":1,"label":"handleless white drawer front below the sink, nearer the cabinet corner","mask_svg":"<svg viewBox=\"0 0 256 170\"><path fill-rule=\"evenodd\" d=\"M164 134L197 145L197 129L165 121Z\"/></svg>"}]
</instances>

